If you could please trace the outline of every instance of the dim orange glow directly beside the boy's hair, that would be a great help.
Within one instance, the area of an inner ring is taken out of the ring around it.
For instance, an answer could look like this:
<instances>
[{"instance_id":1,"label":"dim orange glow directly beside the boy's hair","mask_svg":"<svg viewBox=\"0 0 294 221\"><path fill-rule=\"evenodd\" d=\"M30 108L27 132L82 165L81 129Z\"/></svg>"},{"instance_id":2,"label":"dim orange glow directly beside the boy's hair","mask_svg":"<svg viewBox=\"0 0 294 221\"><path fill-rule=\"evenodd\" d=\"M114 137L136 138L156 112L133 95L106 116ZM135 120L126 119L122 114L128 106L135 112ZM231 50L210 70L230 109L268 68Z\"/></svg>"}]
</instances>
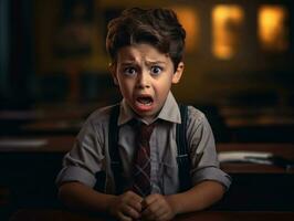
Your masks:
<instances>
[{"instance_id":1,"label":"dim orange glow directly beside the boy's hair","mask_svg":"<svg viewBox=\"0 0 294 221\"><path fill-rule=\"evenodd\" d=\"M174 10L186 30L186 51L192 52L199 42L199 18L195 10L188 7L174 7Z\"/></svg>"}]
</instances>

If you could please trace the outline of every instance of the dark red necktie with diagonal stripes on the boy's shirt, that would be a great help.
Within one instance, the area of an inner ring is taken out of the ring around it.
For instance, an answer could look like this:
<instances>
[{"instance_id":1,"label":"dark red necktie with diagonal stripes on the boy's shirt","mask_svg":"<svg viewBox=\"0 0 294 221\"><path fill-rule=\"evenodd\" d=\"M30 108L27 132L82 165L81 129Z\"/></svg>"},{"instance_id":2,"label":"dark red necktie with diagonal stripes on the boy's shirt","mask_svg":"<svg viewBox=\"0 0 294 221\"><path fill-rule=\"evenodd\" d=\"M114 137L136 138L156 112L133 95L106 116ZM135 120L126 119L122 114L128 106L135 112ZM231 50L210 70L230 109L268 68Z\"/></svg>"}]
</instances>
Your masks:
<instances>
[{"instance_id":1,"label":"dark red necktie with diagonal stripes on the boy's shirt","mask_svg":"<svg viewBox=\"0 0 294 221\"><path fill-rule=\"evenodd\" d=\"M139 125L138 133L138 147L137 152L134 159L134 183L133 191L138 193L141 197L150 194L151 185L150 185L150 146L149 140L153 134L155 124Z\"/></svg>"}]
</instances>

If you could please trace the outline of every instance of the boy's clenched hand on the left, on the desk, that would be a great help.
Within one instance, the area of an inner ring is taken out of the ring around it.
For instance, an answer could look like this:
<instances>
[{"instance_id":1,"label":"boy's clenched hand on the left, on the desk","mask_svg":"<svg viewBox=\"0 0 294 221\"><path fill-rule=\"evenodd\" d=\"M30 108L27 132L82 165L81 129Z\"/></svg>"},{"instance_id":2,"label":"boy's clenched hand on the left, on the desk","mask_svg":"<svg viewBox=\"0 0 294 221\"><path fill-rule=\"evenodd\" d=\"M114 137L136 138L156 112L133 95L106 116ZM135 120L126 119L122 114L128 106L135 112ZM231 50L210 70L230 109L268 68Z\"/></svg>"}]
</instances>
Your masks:
<instances>
[{"instance_id":1,"label":"boy's clenched hand on the left, on the desk","mask_svg":"<svg viewBox=\"0 0 294 221\"><path fill-rule=\"evenodd\" d=\"M133 221L140 218L143 198L133 191L127 191L114 198L109 203L109 213L122 221Z\"/></svg>"}]
</instances>

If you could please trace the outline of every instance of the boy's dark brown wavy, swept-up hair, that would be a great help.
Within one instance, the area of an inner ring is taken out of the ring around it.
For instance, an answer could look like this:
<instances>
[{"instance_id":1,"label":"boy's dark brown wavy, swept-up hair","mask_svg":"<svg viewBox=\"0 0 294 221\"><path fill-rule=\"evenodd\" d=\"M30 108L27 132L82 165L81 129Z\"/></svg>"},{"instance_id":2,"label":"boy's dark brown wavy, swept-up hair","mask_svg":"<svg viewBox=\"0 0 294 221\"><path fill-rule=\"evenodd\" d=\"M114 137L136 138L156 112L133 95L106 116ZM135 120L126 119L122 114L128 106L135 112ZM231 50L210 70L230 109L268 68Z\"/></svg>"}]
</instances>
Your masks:
<instances>
[{"instance_id":1,"label":"boy's dark brown wavy, swept-up hair","mask_svg":"<svg viewBox=\"0 0 294 221\"><path fill-rule=\"evenodd\" d=\"M176 69L182 60L186 31L170 9L130 8L109 21L106 50L116 61L119 49L137 43L149 43L171 57Z\"/></svg>"}]
</instances>

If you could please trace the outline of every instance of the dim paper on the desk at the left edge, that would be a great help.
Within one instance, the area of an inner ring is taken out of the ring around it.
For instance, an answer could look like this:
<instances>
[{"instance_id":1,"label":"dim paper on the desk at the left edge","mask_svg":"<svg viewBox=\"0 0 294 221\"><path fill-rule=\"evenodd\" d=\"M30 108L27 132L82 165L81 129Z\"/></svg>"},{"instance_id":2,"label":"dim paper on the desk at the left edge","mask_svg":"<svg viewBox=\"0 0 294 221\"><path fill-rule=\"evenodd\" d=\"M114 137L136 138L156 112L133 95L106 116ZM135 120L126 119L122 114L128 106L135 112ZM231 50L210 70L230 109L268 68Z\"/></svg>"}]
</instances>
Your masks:
<instances>
[{"instance_id":1,"label":"dim paper on the desk at the left edge","mask_svg":"<svg viewBox=\"0 0 294 221\"><path fill-rule=\"evenodd\" d=\"M46 144L46 139L0 139L0 148L38 148Z\"/></svg>"}]
</instances>

